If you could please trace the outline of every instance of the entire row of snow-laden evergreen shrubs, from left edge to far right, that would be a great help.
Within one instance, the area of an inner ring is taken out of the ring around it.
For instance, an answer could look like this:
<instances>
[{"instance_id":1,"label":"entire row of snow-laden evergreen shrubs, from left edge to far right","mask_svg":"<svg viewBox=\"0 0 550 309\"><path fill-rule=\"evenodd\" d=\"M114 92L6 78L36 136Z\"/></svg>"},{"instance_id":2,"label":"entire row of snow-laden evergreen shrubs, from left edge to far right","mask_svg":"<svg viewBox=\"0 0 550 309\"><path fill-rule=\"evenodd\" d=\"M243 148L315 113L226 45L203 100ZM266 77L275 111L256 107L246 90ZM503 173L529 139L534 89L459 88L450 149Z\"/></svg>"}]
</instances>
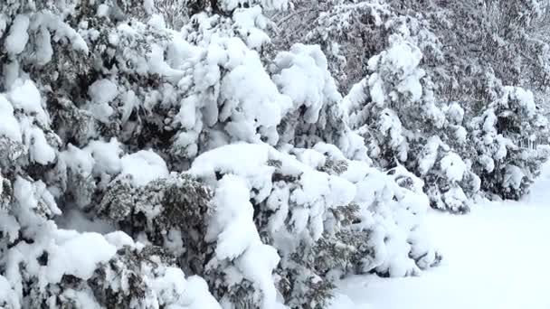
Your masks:
<instances>
[{"instance_id":1,"label":"entire row of snow-laden evergreen shrubs, from left edge to far right","mask_svg":"<svg viewBox=\"0 0 550 309\"><path fill-rule=\"evenodd\" d=\"M271 44L288 6L0 3L0 306L325 307L437 265L430 205L526 191L528 91L467 121L397 32L343 96L321 47Z\"/></svg>"}]
</instances>

